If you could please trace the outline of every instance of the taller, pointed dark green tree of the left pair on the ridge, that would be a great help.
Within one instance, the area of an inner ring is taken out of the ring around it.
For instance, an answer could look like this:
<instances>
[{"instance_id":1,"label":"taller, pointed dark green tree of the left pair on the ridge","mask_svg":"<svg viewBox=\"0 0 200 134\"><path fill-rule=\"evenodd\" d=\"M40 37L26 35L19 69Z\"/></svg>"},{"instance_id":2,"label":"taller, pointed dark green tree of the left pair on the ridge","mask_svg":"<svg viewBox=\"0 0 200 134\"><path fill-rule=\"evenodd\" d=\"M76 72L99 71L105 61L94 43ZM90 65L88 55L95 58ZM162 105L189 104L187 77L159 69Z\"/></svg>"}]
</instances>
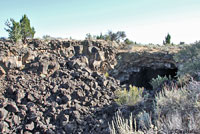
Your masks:
<instances>
[{"instance_id":1,"label":"taller, pointed dark green tree of the left pair on the ridge","mask_svg":"<svg viewBox=\"0 0 200 134\"><path fill-rule=\"evenodd\" d=\"M26 43L27 38L34 37L35 29L34 27L31 27L30 20L26 15L22 16L22 19L20 20L20 26L21 26L22 42Z\"/></svg>"}]
</instances>

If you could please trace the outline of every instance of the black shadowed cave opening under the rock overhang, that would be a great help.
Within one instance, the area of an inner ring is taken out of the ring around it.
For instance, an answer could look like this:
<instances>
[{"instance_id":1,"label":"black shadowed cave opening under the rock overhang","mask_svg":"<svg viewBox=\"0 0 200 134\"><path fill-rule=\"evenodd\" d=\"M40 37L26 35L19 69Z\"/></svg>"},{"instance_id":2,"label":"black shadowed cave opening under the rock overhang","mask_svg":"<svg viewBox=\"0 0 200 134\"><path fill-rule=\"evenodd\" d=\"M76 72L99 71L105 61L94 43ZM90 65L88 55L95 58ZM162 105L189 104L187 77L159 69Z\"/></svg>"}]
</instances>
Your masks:
<instances>
[{"instance_id":1,"label":"black shadowed cave opening under the rock overhang","mask_svg":"<svg viewBox=\"0 0 200 134\"><path fill-rule=\"evenodd\" d=\"M133 72L129 76L129 80L122 82L121 84L128 85L134 85L137 87L144 87L146 89L152 89L152 86L150 84L150 81L153 78L157 78L158 75L164 77L164 76L171 76L172 78L175 78L177 73L177 68L175 69L153 69L150 67L143 67L139 72Z\"/></svg>"}]
</instances>

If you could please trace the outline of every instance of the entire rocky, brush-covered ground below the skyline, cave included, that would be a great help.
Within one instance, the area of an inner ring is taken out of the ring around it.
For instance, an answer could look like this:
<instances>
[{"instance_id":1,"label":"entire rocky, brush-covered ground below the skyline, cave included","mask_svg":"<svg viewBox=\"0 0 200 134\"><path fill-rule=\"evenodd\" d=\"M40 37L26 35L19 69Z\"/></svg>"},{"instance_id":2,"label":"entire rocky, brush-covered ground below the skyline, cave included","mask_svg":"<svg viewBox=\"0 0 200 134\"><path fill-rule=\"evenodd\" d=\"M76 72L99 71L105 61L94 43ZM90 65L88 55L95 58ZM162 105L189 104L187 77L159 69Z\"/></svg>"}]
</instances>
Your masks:
<instances>
[{"instance_id":1,"label":"entire rocky, brush-covered ground below the skyline, cave included","mask_svg":"<svg viewBox=\"0 0 200 134\"><path fill-rule=\"evenodd\" d=\"M199 48L0 40L0 132L200 133Z\"/></svg>"}]
</instances>

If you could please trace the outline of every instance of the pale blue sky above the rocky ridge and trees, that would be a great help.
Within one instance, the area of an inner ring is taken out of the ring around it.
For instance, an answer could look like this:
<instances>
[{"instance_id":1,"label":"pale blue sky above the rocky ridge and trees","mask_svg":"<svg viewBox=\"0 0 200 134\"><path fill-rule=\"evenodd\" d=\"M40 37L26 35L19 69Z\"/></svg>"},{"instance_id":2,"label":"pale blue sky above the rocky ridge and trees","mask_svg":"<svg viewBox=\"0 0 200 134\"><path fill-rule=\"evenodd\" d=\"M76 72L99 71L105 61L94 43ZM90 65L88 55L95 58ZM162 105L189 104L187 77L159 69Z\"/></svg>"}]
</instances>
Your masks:
<instances>
[{"instance_id":1,"label":"pale blue sky above the rocky ridge and trees","mask_svg":"<svg viewBox=\"0 0 200 134\"><path fill-rule=\"evenodd\" d=\"M200 0L0 0L0 37L7 19L24 14L35 37L50 35L84 39L125 31L142 44L162 44L169 33L173 43L200 40Z\"/></svg>"}]
</instances>

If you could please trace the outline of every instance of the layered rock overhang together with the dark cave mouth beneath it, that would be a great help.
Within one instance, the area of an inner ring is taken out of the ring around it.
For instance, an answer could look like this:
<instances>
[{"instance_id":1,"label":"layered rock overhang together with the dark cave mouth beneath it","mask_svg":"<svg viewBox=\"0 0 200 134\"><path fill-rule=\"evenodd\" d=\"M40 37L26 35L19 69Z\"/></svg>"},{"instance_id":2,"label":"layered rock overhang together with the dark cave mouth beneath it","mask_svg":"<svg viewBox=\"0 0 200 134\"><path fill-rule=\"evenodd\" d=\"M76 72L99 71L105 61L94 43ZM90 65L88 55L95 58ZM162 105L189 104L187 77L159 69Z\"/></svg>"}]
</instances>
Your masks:
<instances>
[{"instance_id":1,"label":"layered rock overhang together with the dark cave mouth beneath it","mask_svg":"<svg viewBox=\"0 0 200 134\"><path fill-rule=\"evenodd\" d=\"M150 81L158 75L176 77L175 53L168 51L122 51L116 54L117 65L110 74L121 84L152 88Z\"/></svg>"}]
</instances>

